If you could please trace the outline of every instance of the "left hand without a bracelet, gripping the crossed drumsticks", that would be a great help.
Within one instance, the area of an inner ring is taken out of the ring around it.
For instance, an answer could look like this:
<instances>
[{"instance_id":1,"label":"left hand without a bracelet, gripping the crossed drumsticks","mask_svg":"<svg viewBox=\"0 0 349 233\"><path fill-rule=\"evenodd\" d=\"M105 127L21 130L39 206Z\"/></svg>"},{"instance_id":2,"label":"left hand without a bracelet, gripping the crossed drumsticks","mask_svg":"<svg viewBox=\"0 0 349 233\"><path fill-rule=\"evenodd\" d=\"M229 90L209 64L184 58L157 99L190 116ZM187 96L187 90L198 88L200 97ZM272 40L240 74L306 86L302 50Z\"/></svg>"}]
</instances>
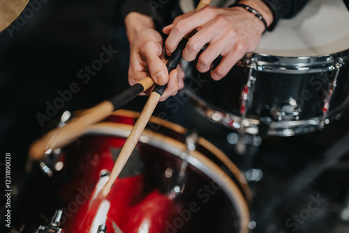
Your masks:
<instances>
[{"instance_id":1,"label":"left hand without a bracelet, gripping the crossed drumsticks","mask_svg":"<svg viewBox=\"0 0 349 233\"><path fill-rule=\"evenodd\" d=\"M130 42L128 82L133 85L150 75L156 84L168 84L160 101L175 95L184 87L184 72L179 68L168 75L163 59L163 38L154 29L151 17L132 12L126 16L125 24Z\"/></svg>"}]
</instances>

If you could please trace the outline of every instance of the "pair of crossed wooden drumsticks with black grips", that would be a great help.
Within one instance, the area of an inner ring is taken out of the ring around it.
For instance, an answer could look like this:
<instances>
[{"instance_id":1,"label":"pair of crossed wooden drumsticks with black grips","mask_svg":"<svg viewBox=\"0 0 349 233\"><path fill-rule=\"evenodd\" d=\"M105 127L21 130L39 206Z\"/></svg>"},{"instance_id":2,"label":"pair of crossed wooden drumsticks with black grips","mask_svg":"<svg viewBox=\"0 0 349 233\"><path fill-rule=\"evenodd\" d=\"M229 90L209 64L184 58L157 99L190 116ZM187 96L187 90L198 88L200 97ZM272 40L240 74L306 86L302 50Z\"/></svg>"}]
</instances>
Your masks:
<instances>
[{"instance_id":1,"label":"pair of crossed wooden drumsticks with black grips","mask_svg":"<svg viewBox=\"0 0 349 233\"><path fill-rule=\"evenodd\" d=\"M200 3L198 4L196 10L200 10L205 6L208 6L210 2L211 0L200 0ZM177 46L177 49L172 53L172 56L166 64L168 73L170 73L174 68L177 68L179 61L181 60L181 53L184 50L184 47L186 47L188 39L192 35L193 33L189 33L187 36L185 36ZM77 137L80 137L84 133L84 130L86 130L86 126L105 119L105 117L109 116L121 105L124 105L128 101L132 100L133 98L138 96L138 94L149 89L153 85L154 81L151 79L151 77L146 77L144 80L138 82L138 84L133 85L111 100L105 100L95 107L92 107L91 109L78 114L77 117L72 119L72 121L70 121L70 123L68 123L63 128L52 130L43 138L34 142L29 151L29 155L31 156L31 158L38 160L43 157L47 150L65 146L69 142L77 139ZM153 91L151 92L149 99L147 100L147 103L144 105L144 108L140 114L140 117L136 121L135 126L133 126L130 135L128 136L124 146L120 151L112 172L110 173L109 179L103 186L102 193L104 197L106 197L110 192L110 188L114 184L114 181L117 179L128 158L131 156L133 149L135 149L135 145L137 144L140 135L147 125L151 114L154 112L155 107L158 104L161 95L163 94L163 91L165 91L165 88L166 85L156 85L156 87L154 87Z\"/></svg>"}]
</instances>

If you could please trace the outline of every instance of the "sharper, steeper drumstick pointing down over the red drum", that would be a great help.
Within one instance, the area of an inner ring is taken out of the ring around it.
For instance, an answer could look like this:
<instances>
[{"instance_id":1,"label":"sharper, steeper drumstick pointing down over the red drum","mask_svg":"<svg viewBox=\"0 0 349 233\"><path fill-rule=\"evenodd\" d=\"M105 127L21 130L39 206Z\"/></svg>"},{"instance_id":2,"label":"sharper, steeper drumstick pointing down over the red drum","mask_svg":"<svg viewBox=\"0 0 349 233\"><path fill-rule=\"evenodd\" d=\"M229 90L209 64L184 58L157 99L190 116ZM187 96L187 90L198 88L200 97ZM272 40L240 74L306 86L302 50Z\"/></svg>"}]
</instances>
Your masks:
<instances>
[{"instance_id":1,"label":"sharper, steeper drumstick pointing down over the red drum","mask_svg":"<svg viewBox=\"0 0 349 233\"><path fill-rule=\"evenodd\" d=\"M205 6L209 6L209 3L211 0L200 0L200 3L198 4L198 7L195 11L200 10L201 8L204 8ZM166 67L168 68L168 73L170 73L173 69L177 68L179 61L181 60L181 53L184 50L184 47L186 47L186 43L188 42L188 39L193 35L192 33L188 33L187 36L185 36L181 42L179 42L176 50L172 53L168 63L166 64ZM149 99L147 100L147 103L145 104L142 112L140 113L140 117L135 123L135 126L133 126L133 129L131 130L130 135L128 136L124 146L122 147L119 156L117 158L117 161L114 164L114 167L112 168L112 172L110 173L110 177L103 186L102 194L104 197L106 197L109 192L110 188L112 188L112 185L114 184L115 180L117 179L117 176L119 176L122 168L126 164L128 158L130 158L131 153L133 149L135 149L135 145L137 144L140 135L142 134L145 126L147 125L151 114L153 114L156 105L158 105L158 100L160 100L163 91L165 91L166 85L164 86L158 86L156 85L154 90L151 92L151 95L149 96Z\"/></svg>"}]
</instances>

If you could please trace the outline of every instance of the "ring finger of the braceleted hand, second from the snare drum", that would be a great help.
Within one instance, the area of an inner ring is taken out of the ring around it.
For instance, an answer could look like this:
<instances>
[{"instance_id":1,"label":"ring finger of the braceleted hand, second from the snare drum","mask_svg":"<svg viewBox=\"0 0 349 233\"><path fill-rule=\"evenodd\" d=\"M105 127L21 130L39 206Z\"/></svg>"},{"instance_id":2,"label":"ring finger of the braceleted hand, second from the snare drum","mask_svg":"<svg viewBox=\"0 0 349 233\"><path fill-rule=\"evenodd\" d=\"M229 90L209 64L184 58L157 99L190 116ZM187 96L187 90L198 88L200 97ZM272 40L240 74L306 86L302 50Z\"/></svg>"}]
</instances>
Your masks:
<instances>
[{"instance_id":1,"label":"ring finger of the braceleted hand, second from the snare drum","mask_svg":"<svg viewBox=\"0 0 349 233\"><path fill-rule=\"evenodd\" d=\"M196 63L196 68L199 72L205 73L211 69L211 64L220 54L223 54L223 51L229 46L231 42L228 40L217 40L211 42L211 44L206 48L198 59L198 63ZM229 53L229 51L227 52Z\"/></svg>"}]
</instances>

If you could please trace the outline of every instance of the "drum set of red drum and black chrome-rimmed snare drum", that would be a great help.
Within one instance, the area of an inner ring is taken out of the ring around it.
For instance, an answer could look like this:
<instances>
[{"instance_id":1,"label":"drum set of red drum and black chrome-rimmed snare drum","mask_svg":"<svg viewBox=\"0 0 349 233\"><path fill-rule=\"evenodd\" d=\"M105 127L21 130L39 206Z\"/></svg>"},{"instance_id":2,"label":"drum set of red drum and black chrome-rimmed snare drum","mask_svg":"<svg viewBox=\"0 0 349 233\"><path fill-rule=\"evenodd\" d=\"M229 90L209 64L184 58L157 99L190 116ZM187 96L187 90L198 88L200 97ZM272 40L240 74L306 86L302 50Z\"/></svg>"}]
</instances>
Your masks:
<instances>
[{"instance_id":1,"label":"drum set of red drum and black chrome-rimmed snare drum","mask_svg":"<svg viewBox=\"0 0 349 233\"><path fill-rule=\"evenodd\" d=\"M191 68L184 93L202 117L237 135L237 153L246 152L241 148L255 139L322 130L349 105L348 22L343 1L310 1L295 18L281 20L263 36L258 49L221 81ZM138 117L117 110L86 126L73 142L47 150L36 163L47 177L35 183L44 186L33 184L34 191L21 202L40 204L29 211L20 208L26 214L18 232L254 232L256 191L246 176L255 174L237 167L195 130L157 117L149 120L110 195L101 197ZM60 126L65 124L69 121L62 118ZM301 190L329 164L338 163L349 151L347 138L336 155L327 153L320 165L295 176L283 195ZM312 198L312 203L322 203L322 198ZM264 213L269 214L268 208ZM290 220L292 227L286 228L302 232L296 223Z\"/></svg>"}]
</instances>

